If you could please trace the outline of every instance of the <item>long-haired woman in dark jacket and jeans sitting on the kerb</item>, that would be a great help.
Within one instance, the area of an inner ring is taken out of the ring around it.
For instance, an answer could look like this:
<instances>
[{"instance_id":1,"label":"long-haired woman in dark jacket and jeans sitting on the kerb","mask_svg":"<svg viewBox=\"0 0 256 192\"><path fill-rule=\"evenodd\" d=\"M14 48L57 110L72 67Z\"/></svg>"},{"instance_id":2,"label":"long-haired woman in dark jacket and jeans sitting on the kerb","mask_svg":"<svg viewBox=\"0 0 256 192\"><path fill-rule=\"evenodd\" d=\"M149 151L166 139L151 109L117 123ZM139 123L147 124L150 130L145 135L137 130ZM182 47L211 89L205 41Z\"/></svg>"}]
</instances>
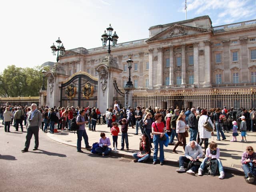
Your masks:
<instances>
[{"instance_id":1,"label":"long-haired woman in dark jacket and jeans sitting on the kerb","mask_svg":"<svg viewBox=\"0 0 256 192\"><path fill-rule=\"evenodd\" d=\"M151 149L150 142L147 134L142 134L140 138L140 152L134 153L134 162L144 163L148 158L150 158Z\"/></svg>"}]
</instances>

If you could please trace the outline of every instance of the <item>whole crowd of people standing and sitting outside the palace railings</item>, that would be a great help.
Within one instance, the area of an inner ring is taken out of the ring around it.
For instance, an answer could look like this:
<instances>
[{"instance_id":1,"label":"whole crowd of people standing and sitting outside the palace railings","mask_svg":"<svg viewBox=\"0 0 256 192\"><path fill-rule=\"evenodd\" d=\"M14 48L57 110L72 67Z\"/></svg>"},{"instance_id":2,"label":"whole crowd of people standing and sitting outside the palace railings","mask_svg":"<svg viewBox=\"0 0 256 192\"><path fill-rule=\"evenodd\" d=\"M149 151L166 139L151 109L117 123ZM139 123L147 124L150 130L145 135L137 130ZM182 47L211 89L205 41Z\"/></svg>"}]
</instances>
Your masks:
<instances>
[{"instance_id":1,"label":"whole crowd of people standing and sitting outside the palace railings","mask_svg":"<svg viewBox=\"0 0 256 192\"><path fill-rule=\"evenodd\" d=\"M38 115L40 114L40 115ZM36 120L34 120L34 118ZM54 129L59 130L72 130L72 120L75 119L78 125L78 139L77 139L77 151L81 150L81 141L84 138L86 148L90 149L91 146L88 143L88 135L86 133L85 124L88 124L89 131L96 131L96 124L106 124L110 129L112 135L113 150L117 149L118 134L121 132L121 148L124 150L124 143L126 144L126 150L129 150L128 143L128 127L136 128L135 134L141 133L139 152L133 156L134 162L146 162L150 158L151 150L153 150L153 164L158 161L158 149L160 165L164 164L164 145L175 145L172 152L178 153L176 148L183 147L184 156L180 156L179 169L177 172L187 172L194 175L198 172L201 176L205 172L205 167L208 166L207 162L212 160L216 161L216 165L219 171L219 178L224 178L224 170L220 161L220 149L215 142L210 143L209 139L213 136L214 130L216 131L217 140L226 140L224 132L232 131L232 140L230 142L236 142L238 130L241 134L241 142L247 142L247 132L253 132L256 126L256 111L255 108L248 111L244 108L240 108L237 111L234 108L227 109L224 106L223 109L212 108L201 109L200 107L179 109L171 107L167 110L160 109L158 107L144 108L137 106L136 109L120 108L116 101L113 108L108 108L104 114L102 114L98 108L80 108L71 107L37 107L36 104L28 106L1 106L0 107L0 119L4 124L5 132L10 132L10 125L14 123L15 131L18 131L20 126L23 132L23 121L27 128L27 136L25 147L22 152L28 151L30 139L32 135L35 136L35 146L33 150L38 148L38 131L39 128L43 132L50 130L51 134L54 134ZM39 123L38 123L39 122ZM212 127L212 130L207 130L205 124ZM119 127L120 126L120 129ZM135 126L135 127L134 127ZM190 132L190 142L186 144L186 137ZM174 142L174 138L177 138L178 142ZM204 143L204 151L202 150L202 144ZM100 140L95 151L99 154L108 155L111 152L110 138L106 137L104 133L100 134ZM199 161L203 158L202 162ZM242 154L242 168L245 173L246 182L254 182L256 168L256 153L251 146L246 148L246 152ZM184 164L188 164L185 170Z\"/></svg>"}]
</instances>

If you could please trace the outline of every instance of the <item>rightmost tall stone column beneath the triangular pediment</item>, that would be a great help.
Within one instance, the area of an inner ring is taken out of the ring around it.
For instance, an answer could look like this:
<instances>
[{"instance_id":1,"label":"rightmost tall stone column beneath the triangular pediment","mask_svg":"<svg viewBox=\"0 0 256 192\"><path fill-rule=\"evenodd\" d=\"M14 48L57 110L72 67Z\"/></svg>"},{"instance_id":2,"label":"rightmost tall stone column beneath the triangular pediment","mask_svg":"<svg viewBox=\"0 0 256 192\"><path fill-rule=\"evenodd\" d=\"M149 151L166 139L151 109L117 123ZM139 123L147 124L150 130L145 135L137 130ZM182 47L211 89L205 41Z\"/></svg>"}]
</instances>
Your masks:
<instances>
[{"instance_id":1,"label":"rightmost tall stone column beneath the triangular pediment","mask_svg":"<svg viewBox=\"0 0 256 192\"><path fill-rule=\"evenodd\" d=\"M210 41L204 41L204 87L211 86L211 52L210 52Z\"/></svg>"}]
</instances>

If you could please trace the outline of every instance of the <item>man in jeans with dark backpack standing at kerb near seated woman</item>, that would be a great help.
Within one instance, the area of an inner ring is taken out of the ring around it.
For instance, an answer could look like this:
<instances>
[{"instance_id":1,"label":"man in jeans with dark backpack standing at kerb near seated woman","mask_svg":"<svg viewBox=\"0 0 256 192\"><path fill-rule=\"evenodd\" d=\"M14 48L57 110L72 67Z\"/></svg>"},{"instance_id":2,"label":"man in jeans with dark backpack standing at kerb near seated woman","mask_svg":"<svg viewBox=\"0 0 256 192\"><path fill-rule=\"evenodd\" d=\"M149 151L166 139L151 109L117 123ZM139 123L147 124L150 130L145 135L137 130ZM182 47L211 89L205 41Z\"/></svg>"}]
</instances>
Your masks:
<instances>
[{"instance_id":1,"label":"man in jeans with dark backpack standing at kerb near seated woman","mask_svg":"<svg viewBox=\"0 0 256 192\"><path fill-rule=\"evenodd\" d=\"M88 135L85 130L85 124L88 123L88 121L84 120L85 113L86 111L82 109L79 112L80 115L76 117L76 124L79 126L77 131L76 149L77 149L77 152L80 152L80 153L83 153L83 151L81 150L82 137L84 138L85 148L91 148L91 146L89 146Z\"/></svg>"}]
</instances>

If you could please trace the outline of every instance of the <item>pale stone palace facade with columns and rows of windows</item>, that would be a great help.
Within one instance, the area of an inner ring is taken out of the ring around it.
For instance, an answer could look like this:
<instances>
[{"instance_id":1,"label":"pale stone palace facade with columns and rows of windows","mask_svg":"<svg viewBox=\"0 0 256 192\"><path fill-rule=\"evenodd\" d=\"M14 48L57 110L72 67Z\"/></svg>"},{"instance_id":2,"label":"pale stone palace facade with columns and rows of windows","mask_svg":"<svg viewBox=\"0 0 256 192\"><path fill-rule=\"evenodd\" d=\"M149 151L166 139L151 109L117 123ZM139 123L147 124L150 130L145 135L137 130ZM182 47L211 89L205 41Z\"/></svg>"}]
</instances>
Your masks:
<instances>
[{"instance_id":1,"label":"pale stone palace facade with columns and rows of windows","mask_svg":"<svg viewBox=\"0 0 256 192\"><path fill-rule=\"evenodd\" d=\"M98 78L95 67L106 54L107 47L75 48L58 66L67 78L78 72ZM111 54L122 69L119 88L128 81L126 60L133 60L134 106L255 107L256 20L212 26L200 16L152 26L148 38L117 44Z\"/></svg>"}]
</instances>

